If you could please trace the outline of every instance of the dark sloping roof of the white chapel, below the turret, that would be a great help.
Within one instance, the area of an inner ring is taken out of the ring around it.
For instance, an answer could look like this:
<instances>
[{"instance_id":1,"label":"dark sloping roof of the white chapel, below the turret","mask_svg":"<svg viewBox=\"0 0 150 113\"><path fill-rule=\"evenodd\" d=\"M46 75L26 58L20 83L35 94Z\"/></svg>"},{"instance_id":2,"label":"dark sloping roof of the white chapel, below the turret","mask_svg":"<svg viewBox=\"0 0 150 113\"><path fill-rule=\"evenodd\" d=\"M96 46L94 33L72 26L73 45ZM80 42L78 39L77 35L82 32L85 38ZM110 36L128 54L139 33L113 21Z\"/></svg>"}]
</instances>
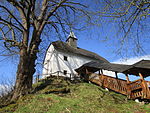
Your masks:
<instances>
[{"instance_id":1,"label":"dark sloping roof of the white chapel, below the turret","mask_svg":"<svg viewBox=\"0 0 150 113\"><path fill-rule=\"evenodd\" d=\"M85 57L92 58L94 60L100 60L103 62L108 62L105 58L99 56L96 53L87 51L85 49L81 49L79 47L77 47L77 48L71 47L66 42L56 41L56 42L52 42L52 44L56 50L61 50L61 51L68 52L68 53L74 53L77 55L82 55Z\"/></svg>"}]
</instances>

